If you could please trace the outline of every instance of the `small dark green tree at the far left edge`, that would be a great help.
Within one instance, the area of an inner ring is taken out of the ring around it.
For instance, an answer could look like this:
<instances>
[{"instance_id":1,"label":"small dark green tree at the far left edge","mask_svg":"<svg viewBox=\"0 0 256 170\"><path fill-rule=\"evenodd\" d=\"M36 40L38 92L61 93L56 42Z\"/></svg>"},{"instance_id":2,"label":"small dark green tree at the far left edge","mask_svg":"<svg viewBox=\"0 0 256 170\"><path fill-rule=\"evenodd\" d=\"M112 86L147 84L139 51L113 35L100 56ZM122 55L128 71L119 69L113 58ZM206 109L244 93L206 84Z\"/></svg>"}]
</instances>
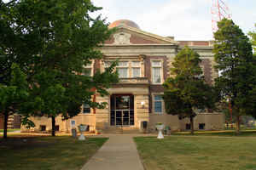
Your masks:
<instances>
[{"instance_id":1,"label":"small dark green tree at the far left edge","mask_svg":"<svg viewBox=\"0 0 256 170\"><path fill-rule=\"evenodd\" d=\"M26 75L16 64L12 65L11 70L9 85L0 83L0 112L4 116L3 139L7 139L8 117L18 113L22 103L29 97Z\"/></svg>"}]
</instances>

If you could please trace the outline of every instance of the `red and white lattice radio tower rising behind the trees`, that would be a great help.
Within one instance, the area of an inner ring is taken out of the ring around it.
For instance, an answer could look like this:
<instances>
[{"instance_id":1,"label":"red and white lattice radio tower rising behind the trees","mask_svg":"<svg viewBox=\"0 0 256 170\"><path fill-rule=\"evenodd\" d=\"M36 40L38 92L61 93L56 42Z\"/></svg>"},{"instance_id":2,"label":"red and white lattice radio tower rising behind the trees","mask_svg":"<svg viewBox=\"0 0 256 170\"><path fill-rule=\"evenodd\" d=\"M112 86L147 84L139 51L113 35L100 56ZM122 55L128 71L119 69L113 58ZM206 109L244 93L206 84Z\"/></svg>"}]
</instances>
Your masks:
<instances>
[{"instance_id":1,"label":"red and white lattice radio tower rising behind the trees","mask_svg":"<svg viewBox=\"0 0 256 170\"><path fill-rule=\"evenodd\" d=\"M212 0L212 33L218 31L218 21L227 18L231 19L230 9L224 0Z\"/></svg>"}]
</instances>

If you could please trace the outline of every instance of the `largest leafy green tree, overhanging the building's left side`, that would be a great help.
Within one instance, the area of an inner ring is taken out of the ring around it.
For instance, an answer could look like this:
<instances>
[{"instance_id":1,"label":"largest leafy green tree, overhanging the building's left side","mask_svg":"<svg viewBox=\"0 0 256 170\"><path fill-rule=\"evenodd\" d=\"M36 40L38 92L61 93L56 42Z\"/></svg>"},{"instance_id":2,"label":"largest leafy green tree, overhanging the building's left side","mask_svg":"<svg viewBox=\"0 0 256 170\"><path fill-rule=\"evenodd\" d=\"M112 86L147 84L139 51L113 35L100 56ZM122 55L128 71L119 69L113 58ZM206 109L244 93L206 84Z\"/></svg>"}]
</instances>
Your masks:
<instances>
[{"instance_id":1,"label":"largest leafy green tree, overhanging the building's left side","mask_svg":"<svg viewBox=\"0 0 256 170\"><path fill-rule=\"evenodd\" d=\"M84 103L104 107L105 103L91 101L90 96L108 94L106 88L118 81L113 73L115 64L105 72L95 71L93 77L87 76L84 68L91 60L102 59L96 48L114 31L108 30L100 16L90 17L101 8L88 0L16 0L3 4L1 48L9 55L5 61L18 60L27 74L31 94L23 108L27 116L51 117L54 136L56 116L76 116ZM37 109L34 101L40 103Z\"/></svg>"}]
</instances>

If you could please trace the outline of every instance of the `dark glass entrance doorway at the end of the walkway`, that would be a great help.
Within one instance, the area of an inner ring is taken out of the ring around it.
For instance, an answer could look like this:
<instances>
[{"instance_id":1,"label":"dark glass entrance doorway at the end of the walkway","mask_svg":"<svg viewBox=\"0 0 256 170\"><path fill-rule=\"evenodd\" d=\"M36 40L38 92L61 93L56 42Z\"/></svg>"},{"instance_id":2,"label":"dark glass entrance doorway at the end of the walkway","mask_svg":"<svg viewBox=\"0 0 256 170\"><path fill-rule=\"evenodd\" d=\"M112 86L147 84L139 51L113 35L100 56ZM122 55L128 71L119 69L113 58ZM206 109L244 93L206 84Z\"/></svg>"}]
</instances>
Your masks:
<instances>
[{"instance_id":1,"label":"dark glass entrance doorway at the end of the walkway","mask_svg":"<svg viewBox=\"0 0 256 170\"><path fill-rule=\"evenodd\" d=\"M110 106L111 126L132 126L134 125L134 96L133 95L112 95Z\"/></svg>"}]
</instances>

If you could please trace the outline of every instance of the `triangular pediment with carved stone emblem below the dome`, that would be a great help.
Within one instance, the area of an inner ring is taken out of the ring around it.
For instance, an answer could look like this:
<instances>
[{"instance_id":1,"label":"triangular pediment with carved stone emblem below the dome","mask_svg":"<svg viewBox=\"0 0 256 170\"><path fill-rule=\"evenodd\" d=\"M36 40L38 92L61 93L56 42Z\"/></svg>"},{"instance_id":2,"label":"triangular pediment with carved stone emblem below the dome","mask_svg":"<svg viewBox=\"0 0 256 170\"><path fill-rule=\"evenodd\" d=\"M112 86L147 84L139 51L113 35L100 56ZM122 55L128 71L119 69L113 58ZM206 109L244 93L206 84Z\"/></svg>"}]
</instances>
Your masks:
<instances>
[{"instance_id":1,"label":"triangular pediment with carved stone emblem below the dome","mask_svg":"<svg viewBox=\"0 0 256 170\"><path fill-rule=\"evenodd\" d=\"M168 37L141 31L129 26L120 26L105 44L108 45L132 45L132 44L170 44L176 45L178 42Z\"/></svg>"}]
</instances>

